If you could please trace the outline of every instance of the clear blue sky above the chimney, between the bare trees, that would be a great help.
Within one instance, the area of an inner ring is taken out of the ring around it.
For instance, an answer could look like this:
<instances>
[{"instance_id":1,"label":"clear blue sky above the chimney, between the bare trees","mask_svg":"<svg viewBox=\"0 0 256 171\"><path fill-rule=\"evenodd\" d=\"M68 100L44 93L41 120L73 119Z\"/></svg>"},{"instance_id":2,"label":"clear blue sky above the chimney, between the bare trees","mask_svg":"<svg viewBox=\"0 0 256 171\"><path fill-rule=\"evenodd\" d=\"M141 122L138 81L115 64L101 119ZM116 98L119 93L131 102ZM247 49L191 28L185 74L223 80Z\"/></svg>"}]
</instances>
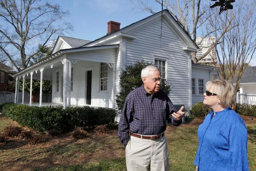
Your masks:
<instances>
[{"instance_id":1,"label":"clear blue sky above the chimney, between the bare trees","mask_svg":"<svg viewBox=\"0 0 256 171\"><path fill-rule=\"evenodd\" d=\"M148 11L135 8L130 0L55 0L63 10L69 10L67 22L72 23L73 31L65 34L84 40L96 40L107 34L108 21L121 23L120 28L128 26L151 15ZM152 4L152 1L148 1ZM161 6L154 4L155 11ZM250 62L256 66L256 55Z\"/></svg>"}]
</instances>

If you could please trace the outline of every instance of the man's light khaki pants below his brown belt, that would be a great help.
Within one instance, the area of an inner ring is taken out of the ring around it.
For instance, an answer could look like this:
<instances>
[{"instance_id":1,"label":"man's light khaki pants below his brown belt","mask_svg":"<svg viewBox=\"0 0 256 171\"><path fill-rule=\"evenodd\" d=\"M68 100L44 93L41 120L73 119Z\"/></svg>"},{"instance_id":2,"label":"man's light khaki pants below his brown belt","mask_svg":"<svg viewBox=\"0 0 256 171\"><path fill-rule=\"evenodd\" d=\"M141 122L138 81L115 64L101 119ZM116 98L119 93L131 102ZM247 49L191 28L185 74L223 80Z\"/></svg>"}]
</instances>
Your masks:
<instances>
[{"instance_id":1,"label":"man's light khaki pants below his brown belt","mask_svg":"<svg viewBox=\"0 0 256 171\"><path fill-rule=\"evenodd\" d=\"M127 171L169 171L169 155L165 136L145 140L131 136L126 148Z\"/></svg>"}]
</instances>

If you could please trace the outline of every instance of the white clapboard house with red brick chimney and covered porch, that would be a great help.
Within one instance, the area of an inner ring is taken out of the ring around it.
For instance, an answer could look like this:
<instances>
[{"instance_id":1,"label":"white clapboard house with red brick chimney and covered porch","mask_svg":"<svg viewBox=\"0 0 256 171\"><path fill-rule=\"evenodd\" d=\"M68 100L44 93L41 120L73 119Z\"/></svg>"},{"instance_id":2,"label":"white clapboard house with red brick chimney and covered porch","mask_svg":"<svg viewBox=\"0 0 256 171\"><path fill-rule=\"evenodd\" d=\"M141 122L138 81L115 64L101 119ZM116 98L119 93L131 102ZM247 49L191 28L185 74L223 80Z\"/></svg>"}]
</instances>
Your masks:
<instances>
[{"instance_id":1,"label":"white clapboard house with red brick chimney and covered porch","mask_svg":"<svg viewBox=\"0 0 256 171\"><path fill-rule=\"evenodd\" d=\"M191 52L198 46L168 10L119 27L108 22L108 34L91 42L59 36L49 57L15 74L16 84L25 78L52 80L52 103L116 108L121 68L145 60L172 83L169 97L175 105L191 108L203 100L214 68L192 64Z\"/></svg>"}]
</instances>

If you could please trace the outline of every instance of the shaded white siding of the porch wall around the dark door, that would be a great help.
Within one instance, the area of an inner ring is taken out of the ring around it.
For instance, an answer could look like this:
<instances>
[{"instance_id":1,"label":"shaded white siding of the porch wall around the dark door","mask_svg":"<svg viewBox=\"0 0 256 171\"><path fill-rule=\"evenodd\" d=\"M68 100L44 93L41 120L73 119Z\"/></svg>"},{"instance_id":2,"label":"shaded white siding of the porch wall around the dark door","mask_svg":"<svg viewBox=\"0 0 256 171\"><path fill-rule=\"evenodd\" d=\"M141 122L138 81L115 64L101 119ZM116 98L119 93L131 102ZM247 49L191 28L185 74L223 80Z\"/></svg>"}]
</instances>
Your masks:
<instances>
[{"instance_id":1,"label":"shaded white siding of the porch wall around the dark door","mask_svg":"<svg viewBox=\"0 0 256 171\"><path fill-rule=\"evenodd\" d=\"M73 74L73 91L71 91L71 105L85 105L85 73L86 68L93 68L92 72L92 97L91 97L91 106L95 107L108 107L112 108L113 100L111 98L112 89L113 89L113 68L109 68L108 72L108 91L100 92L99 91L99 71L100 63L89 62L89 61L80 61L76 64L73 64L74 68ZM56 72L60 72L60 76L63 75L63 68L55 68L53 70L53 83L52 83L52 102L60 103L61 100L61 88L59 92L55 90L56 84ZM61 81L61 77L60 77ZM61 84L61 83L60 83Z\"/></svg>"}]
</instances>

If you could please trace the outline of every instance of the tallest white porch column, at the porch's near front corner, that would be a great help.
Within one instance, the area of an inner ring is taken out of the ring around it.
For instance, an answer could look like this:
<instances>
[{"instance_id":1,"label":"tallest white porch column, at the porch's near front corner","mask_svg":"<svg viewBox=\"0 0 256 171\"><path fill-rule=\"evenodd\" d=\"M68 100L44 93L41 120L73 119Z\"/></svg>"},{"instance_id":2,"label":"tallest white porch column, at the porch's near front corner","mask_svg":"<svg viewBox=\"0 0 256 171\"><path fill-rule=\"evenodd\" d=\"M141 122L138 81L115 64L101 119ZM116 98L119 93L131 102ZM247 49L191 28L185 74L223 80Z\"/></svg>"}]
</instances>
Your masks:
<instances>
[{"instance_id":1,"label":"tallest white porch column, at the porch's near front corner","mask_svg":"<svg viewBox=\"0 0 256 171\"><path fill-rule=\"evenodd\" d=\"M64 59L63 65L63 107L67 107L67 91L68 91L68 61Z\"/></svg>"}]
</instances>

